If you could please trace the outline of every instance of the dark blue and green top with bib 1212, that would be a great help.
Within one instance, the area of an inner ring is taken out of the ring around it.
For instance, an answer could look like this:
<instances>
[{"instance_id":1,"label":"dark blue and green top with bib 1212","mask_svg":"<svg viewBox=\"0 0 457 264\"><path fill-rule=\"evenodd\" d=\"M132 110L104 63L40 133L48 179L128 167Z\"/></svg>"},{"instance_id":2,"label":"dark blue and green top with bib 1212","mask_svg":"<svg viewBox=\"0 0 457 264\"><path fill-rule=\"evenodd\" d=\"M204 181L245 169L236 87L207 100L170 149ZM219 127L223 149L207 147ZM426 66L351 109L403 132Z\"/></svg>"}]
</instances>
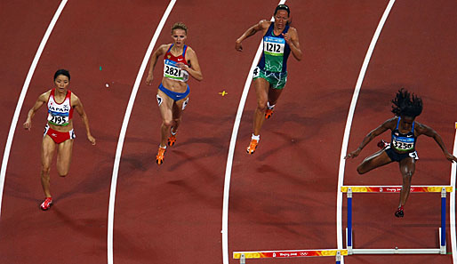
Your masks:
<instances>
[{"instance_id":1,"label":"dark blue and green top with bib 1212","mask_svg":"<svg viewBox=\"0 0 457 264\"><path fill-rule=\"evenodd\" d=\"M291 53L291 47L285 42L282 34L287 33L289 25L286 25L281 35L276 36L273 29L275 22L269 25L269 29L263 36L263 52L258 67L269 72L287 72L287 59Z\"/></svg>"}]
</instances>

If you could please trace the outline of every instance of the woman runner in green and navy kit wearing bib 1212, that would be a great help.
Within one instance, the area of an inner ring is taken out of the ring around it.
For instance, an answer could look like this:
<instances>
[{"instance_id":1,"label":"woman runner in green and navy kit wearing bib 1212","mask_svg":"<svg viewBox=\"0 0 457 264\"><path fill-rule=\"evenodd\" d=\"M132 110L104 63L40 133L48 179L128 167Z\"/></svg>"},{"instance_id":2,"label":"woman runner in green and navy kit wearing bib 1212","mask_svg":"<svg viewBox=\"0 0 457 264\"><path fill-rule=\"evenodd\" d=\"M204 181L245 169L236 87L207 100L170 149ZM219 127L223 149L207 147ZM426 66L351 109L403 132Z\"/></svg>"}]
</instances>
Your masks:
<instances>
[{"instance_id":1,"label":"woman runner in green and navy kit wearing bib 1212","mask_svg":"<svg viewBox=\"0 0 457 264\"><path fill-rule=\"evenodd\" d=\"M247 148L253 154L261 140L261 125L265 119L273 115L279 95L283 92L287 80L287 59L290 52L296 60L301 60L301 50L297 29L289 27L290 10L285 4L275 9L274 22L261 20L248 28L237 39L235 49L243 51L241 43L245 38L258 31L263 34L263 52L261 61L253 71L253 84L257 95L257 108L253 118L253 136Z\"/></svg>"}]
</instances>

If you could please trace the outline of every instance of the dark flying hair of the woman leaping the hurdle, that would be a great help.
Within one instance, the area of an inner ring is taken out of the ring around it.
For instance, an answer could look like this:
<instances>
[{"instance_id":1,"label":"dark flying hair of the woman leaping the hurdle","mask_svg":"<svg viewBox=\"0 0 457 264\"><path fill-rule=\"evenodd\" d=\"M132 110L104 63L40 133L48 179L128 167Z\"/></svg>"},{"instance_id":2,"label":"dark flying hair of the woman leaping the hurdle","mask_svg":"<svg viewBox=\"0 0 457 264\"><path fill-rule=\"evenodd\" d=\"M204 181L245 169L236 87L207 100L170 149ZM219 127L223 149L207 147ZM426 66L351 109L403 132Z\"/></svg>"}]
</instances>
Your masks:
<instances>
[{"instance_id":1,"label":"dark flying hair of the woman leaping the hurdle","mask_svg":"<svg viewBox=\"0 0 457 264\"><path fill-rule=\"evenodd\" d=\"M392 100L392 113L395 116L410 116L415 118L422 113L422 100L420 97L406 91L405 88L398 90L395 99Z\"/></svg>"}]
</instances>

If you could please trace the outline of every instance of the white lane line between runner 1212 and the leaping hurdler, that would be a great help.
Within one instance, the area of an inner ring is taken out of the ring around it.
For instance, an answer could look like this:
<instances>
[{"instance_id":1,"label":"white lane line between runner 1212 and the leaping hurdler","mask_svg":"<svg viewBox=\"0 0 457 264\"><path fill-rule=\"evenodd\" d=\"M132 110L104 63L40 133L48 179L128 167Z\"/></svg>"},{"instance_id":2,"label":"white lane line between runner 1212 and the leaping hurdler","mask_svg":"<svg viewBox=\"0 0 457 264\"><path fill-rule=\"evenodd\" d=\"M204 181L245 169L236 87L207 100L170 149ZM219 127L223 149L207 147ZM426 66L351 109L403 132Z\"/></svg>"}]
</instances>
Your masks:
<instances>
[{"instance_id":1,"label":"white lane line between runner 1212 and the leaping hurdler","mask_svg":"<svg viewBox=\"0 0 457 264\"><path fill-rule=\"evenodd\" d=\"M370 44L368 51L366 52L364 64L362 65L362 68L360 69L360 74L358 75L356 88L354 89L354 94L352 95L352 100L350 102L348 120L346 121L346 127L344 129L344 136L343 136L343 141L342 141L342 146L341 146L340 170L338 172L338 189L336 190L336 192L337 192L336 236L337 236L338 249L343 248L342 222L341 222L341 220L342 220L342 214L341 214L342 193L340 190L341 190L341 186L343 185L343 181L344 181L344 166L346 165L344 156L346 156L347 151L348 151L349 132L350 132L350 127L352 125L352 118L354 117L354 111L355 111L356 105L357 105L358 94L360 92L360 88L362 87L362 83L364 82L366 68L368 68L368 63L370 62L370 59L372 58L374 46L378 42L378 38L381 35L382 27L384 27L384 23L386 22L386 20L389 16L389 12L392 9L392 6L394 5L394 3L395 3L395 0L390 0L388 6L386 7L386 10L384 11L384 14L382 14L380 23L378 24L378 28L376 28L376 31L374 32L372 43ZM344 262L343 257L341 256L341 263L343 263L343 262Z\"/></svg>"}]
</instances>

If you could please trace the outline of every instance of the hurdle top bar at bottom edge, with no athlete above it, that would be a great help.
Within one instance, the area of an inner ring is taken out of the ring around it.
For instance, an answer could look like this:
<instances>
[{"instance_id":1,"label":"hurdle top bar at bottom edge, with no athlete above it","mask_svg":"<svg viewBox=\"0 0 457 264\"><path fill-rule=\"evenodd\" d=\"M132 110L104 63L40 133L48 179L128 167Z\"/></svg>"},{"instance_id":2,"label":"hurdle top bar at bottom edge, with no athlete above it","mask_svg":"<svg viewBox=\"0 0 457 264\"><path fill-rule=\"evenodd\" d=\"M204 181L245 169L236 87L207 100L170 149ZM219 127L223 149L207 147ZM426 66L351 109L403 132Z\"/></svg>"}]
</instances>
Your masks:
<instances>
[{"instance_id":1,"label":"hurdle top bar at bottom edge, with no athlete above it","mask_svg":"<svg viewBox=\"0 0 457 264\"><path fill-rule=\"evenodd\" d=\"M341 264L341 256L347 256L348 250L295 250L295 251L261 251L261 252L233 252L233 259L245 264L246 259L264 258L303 258L303 257L335 257L336 264Z\"/></svg>"}]
</instances>

